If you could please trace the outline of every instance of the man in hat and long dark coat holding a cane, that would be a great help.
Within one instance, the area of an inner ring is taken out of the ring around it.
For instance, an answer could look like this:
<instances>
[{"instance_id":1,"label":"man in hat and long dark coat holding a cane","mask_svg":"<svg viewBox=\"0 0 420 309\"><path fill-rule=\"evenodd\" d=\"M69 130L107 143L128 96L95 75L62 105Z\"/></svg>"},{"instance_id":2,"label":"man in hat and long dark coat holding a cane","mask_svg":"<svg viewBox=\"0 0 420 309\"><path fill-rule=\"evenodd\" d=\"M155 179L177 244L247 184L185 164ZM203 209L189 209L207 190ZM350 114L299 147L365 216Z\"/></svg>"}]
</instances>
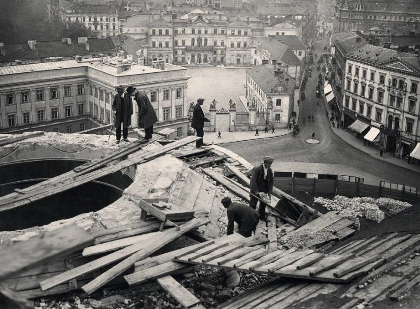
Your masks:
<instances>
[{"instance_id":1,"label":"man in hat and long dark coat holding a cane","mask_svg":"<svg viewBox=\"0 0 420 309\"><path fill-rule=\"evenodd\" d=\"M116 89L114 101L112 102L112 113L115 115L115 135L117 144L121 139L121 124L123 125L123 141L128 142L128 127L131 125L131 115L133 115L133 103L131 97L124 91L124 87L119 85Z\"/></svg>"}]
</instances>

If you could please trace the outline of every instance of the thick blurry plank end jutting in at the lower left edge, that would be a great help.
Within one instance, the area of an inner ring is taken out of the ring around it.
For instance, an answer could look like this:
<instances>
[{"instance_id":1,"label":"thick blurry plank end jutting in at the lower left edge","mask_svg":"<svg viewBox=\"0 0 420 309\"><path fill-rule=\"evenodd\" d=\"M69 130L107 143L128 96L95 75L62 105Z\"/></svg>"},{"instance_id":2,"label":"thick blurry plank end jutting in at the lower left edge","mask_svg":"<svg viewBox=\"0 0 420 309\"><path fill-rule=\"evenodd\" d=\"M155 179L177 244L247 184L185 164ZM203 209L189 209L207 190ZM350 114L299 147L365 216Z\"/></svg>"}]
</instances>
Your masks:
<instances>
[{"instance_id":1,"label":"thick blurry plank end jutting in at the lower left edge","mask_svg":"<svg viewBox=\"0 0 420 309\"><path fill-rule=\"evenodd\" d=\"M0 263L7 268L0 269L0 280L78 251L93 241L91 234L73 224L4 247L0 251Z\"/></svg>"}]
</instances>

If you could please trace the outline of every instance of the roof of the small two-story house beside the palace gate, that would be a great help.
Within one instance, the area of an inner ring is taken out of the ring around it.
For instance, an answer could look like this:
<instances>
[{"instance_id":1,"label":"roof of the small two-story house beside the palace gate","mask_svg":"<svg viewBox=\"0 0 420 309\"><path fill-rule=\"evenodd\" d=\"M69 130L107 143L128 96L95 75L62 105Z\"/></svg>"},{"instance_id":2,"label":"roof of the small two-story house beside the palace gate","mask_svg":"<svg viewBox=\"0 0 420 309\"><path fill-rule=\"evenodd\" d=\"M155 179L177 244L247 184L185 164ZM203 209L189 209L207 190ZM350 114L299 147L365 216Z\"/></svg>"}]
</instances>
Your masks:
<instances>
[{"instance_id":1,"label":"roof of the small two-story house beside the palace gate","mask_svg":"<svg viewBox=\"0 0 420 309\"><path fill-rule=\"evenodd\" d=\"M268 94L271 92L271 89L279 84L283 85L283 93L293 93L296 80L288 76L285 72L283 73L283 78L276 77L274 74L275 68L272 64L262 64L256 67L253 67L249 70L246 70L246 73L256 82L256 84ZM287 87L284 78L289 78Z\"/></svg>"}]
</instances>

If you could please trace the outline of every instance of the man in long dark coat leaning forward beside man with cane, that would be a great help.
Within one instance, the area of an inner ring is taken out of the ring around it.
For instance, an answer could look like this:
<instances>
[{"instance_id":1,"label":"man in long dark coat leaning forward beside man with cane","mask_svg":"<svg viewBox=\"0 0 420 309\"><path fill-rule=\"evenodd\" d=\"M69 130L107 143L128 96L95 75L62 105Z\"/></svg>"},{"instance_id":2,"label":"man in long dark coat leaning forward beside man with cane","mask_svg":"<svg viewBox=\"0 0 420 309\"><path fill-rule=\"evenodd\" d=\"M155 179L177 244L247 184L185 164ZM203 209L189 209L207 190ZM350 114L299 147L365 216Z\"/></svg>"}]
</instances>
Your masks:
<instances>
[{"instance_id":1,"label":"man in long dark coat leaning forward beside man with cane","mask_svg":"<svg viewBox=\"0 0 420 309\"><path fill-rule=\"evenodd\" d=\"M145 134L144 138L140 140L140 143L145 144L152 138L153 124L158 120L155 110L144 91L137 90L136 87L130 86L127 88L127 93L134 97L134 100L139 107L139 118L137 121L139 127L144 128Z\"/></svg>"}]
</instances>

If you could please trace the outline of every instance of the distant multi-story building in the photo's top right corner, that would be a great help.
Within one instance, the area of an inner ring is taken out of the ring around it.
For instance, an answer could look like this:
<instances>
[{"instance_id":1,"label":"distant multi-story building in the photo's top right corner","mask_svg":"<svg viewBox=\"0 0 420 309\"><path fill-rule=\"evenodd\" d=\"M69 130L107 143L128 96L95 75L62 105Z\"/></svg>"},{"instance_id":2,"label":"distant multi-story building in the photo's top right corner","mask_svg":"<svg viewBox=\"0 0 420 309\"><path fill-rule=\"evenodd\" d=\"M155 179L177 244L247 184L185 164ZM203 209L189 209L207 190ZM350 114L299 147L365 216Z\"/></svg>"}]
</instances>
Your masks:
<instances>
[{"instance_id":1,"label":"distant multi-story building in the photo's top right corner","mask_svg":"<svg viewBox=\"0 0 420 309\"><path fill-rule=\"evenodd\" d=\"M389 25L418 27L420 24L418 0L341 0L335 11L335 29L339 32Z\"/></svg>"}]
</instances>

